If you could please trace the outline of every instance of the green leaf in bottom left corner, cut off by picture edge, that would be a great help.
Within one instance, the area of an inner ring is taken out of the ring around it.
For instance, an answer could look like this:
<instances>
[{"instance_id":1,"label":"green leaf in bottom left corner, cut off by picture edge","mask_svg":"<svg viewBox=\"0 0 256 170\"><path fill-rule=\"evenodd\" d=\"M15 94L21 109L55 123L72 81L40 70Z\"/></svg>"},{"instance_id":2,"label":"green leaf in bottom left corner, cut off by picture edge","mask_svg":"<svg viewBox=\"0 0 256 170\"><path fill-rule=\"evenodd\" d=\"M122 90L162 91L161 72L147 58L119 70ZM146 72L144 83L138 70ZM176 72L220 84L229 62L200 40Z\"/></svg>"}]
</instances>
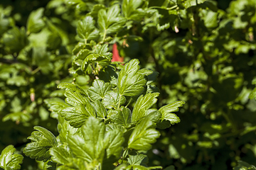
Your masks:
<instances>
[{"instance_id":1,"label":"green leaf in bottom left corner, cut off by picture edge","mask_svg":"<svg viewBox=\"0 0 256 170\"><path fill-rule=\"evenodd\" d=\"M21 154L14 154L16 149L13 145L9 145L2 150L0 155L0 168L5 170L21 169L23 156Z\"/></svg>"}]
</instances>

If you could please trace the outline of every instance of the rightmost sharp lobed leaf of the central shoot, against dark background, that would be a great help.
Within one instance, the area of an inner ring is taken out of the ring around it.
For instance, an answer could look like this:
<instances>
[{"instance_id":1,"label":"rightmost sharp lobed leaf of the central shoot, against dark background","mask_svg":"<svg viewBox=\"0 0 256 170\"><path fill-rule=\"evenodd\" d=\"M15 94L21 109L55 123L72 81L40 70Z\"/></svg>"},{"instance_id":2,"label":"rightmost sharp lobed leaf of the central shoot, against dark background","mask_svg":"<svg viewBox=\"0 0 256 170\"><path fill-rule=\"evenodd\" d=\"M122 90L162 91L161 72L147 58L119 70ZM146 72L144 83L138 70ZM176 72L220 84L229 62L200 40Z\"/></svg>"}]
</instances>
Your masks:
<instances>
[{"instance_id":1,"label":"rightmost sharp lobed leaf of the central shoot, against dark background","mask_svg":"<svg viewBox=\"0 0 256 170\"><path fill-rule=\"evenodd\" d=\"M185 104L185 101L174 101L169 105L159 108L159 112L161 113L161 120L169 120L172 125L174 125L174 123L179 123L181 120L176 114L171 112L177 112L178 107L183 106L183 104Z\"/></svg>"}]
</instances>

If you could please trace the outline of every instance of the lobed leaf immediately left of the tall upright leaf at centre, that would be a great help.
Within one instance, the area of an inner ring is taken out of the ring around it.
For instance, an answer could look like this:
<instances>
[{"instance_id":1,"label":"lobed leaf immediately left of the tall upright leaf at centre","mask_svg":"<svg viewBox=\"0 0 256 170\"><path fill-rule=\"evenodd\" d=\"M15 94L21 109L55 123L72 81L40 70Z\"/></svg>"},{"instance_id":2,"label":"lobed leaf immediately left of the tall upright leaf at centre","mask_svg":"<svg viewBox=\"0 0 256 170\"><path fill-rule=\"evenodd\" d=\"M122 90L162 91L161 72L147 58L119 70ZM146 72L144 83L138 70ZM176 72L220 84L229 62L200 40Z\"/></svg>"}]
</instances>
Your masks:
<instances>
[{"instance_id":1,"label":"lobed leaf immediately left of the tall upright leaf at centre","mask_svg":"<svg viewBox=\"0 0 256 170\"><path fill-rule=\"evenodd\" d=\"M110 91L111 84L105 83L102 80L96 79L93 81L92 86L87 90L88 96L92 99L92 101L102 100L104 96L107 94L107 91Z\"/></svg>"}]
</instances>

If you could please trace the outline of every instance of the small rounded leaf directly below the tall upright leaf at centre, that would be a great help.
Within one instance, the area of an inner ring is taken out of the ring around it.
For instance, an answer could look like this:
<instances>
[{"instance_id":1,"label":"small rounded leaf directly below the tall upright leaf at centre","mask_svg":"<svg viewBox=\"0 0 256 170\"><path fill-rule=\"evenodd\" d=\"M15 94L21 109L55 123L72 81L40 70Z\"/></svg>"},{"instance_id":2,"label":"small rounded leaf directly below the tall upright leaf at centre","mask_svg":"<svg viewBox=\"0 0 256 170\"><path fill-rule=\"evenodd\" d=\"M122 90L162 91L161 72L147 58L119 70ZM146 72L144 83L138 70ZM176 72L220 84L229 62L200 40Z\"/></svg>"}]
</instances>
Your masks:
<instances>
[{"instance_id":1,"label":"small rounded leaf directly below the tall upright leaf at centre","mask_svg":"<svg viewBox=\"0 0 256 170\"><path fill-rule=\"evenodd\" d=\"M102 100L102 104L108 109L117 108L119 101L121 106L125 103L126 98L124 96L119 96L116 91L107 91L107 94L105 94Z\"/></svg>"}]
</instances>

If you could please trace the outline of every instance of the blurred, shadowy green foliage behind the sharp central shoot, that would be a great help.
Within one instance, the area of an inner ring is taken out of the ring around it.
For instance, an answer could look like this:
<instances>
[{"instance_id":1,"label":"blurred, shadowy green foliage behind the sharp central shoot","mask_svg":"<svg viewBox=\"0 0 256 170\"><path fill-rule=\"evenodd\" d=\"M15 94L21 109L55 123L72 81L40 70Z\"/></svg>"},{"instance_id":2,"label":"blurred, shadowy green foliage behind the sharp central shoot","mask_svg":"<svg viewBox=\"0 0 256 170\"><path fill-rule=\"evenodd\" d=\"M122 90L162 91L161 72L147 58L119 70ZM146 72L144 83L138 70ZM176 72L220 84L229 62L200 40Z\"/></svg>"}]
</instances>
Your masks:
<instances>
[{"instance_id":1,"label":"blurred, shadowy green foliage behind the sharp central shoot","mask_svg":"<svg viewBox=\"0 0 256 170\"><path fill-rule=\"evenodd\" d=\"M256 165L256 1L140 2L122 13L125 29L112 43L125 62L138 58L142 67L159 72L156 107L186 101L181 123L162 130L150 150L149 166ZM122 1L1 1L0 150L14 145L21 151L34 125L57 132L43 101L62 98L56 86L74 79L68 69L79 41L77 23L115 3ZM87 79L75 81L83 86ZM24 157L22 169L37 164Z\"/></svg>"}]
</instances>

